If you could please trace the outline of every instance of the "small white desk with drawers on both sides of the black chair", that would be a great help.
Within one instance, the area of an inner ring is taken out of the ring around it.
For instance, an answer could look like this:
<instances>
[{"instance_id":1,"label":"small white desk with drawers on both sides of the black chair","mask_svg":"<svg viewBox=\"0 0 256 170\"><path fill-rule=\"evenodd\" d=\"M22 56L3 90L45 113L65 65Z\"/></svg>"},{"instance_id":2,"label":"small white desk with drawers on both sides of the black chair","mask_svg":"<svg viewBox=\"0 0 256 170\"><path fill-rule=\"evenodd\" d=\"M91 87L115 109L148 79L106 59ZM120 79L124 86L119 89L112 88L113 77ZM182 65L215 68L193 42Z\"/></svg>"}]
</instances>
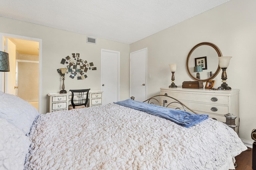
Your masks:
<instances>
[{"instance_id":1,"label":"small white desk with drawers on both sides of the black chair","mask_svg":"<svg viewBox=\"0 0 256 170\"><path fill-rule=\"evenodd\" d=\"M102 93L103 91L100 91L100 90L89 91L88 106L91 107L91 106L102 105ZM72 98L71 92L67 92L66 94L48 93L48 96L50 97L49 112L68 110L68 105L71 104L70 103Z\"/></svg>"}]
</instances>

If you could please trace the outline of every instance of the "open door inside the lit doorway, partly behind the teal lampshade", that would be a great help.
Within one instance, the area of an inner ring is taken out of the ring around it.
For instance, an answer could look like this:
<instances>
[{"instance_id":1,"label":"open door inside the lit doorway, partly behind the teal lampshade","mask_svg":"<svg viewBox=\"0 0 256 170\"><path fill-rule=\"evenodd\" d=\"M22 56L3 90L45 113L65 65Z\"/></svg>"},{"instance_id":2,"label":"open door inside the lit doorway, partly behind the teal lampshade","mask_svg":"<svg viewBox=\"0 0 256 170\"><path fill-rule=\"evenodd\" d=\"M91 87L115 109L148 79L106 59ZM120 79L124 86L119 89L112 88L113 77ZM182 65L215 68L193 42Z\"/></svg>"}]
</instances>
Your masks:
<instances>
[{"instance_id":1,"label":"open door inside the lit doorway, partly behind the teal lampshade","mask_svg":"<svg viewBox=\"0 0 256 170\"><path fill-rule=\"evenodd\" d=\"M5 92L15 95L15 78L16 78L16 45L6 38L6 53L9 54L10 72L5 76Z\"/></svg>"}]
</instances>

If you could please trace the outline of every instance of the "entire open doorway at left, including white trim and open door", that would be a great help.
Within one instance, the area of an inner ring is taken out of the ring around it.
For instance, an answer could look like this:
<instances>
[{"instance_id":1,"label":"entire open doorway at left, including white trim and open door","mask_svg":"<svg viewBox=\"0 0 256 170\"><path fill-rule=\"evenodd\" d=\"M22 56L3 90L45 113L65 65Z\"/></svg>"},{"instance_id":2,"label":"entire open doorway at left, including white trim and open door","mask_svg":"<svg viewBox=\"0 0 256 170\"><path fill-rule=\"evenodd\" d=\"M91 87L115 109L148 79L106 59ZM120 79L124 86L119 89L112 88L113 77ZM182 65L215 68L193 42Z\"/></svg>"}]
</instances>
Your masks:
<instances>
[{"instance_id":1,"label":"entire open doorway at left, including white trim and open door","mask_svg":"<svg viewBox=\"0 0 256 170\"><path fill-rule=\"evenodd\" d=\"M9 53L10 60L10 72L4 73L2 89L29 102L40 113L42 40L3 33L1 35L3 42L1 51Z\"/></svg>"}]
</instances>

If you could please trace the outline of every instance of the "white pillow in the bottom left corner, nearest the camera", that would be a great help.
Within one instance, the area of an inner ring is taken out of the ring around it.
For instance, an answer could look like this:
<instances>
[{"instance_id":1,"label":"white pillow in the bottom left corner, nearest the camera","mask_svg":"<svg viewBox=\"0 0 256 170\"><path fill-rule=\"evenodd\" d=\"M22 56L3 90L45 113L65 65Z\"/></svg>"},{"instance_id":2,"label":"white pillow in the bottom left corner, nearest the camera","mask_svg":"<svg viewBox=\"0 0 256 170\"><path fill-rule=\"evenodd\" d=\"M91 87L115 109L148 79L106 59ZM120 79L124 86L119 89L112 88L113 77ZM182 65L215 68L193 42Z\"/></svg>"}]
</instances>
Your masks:
<instances>
[{"instance_id":1,"label":"white pillow in the bottom left corner, nearest the camera","mask_svg":"<svg viewBox=\"0 0 256 170\"><path fill-rule=\"evenodd\" d=\"M0 118L0 129L0 169L23 170L29 137L6 119Z\"/></svg>"}]
</instances>

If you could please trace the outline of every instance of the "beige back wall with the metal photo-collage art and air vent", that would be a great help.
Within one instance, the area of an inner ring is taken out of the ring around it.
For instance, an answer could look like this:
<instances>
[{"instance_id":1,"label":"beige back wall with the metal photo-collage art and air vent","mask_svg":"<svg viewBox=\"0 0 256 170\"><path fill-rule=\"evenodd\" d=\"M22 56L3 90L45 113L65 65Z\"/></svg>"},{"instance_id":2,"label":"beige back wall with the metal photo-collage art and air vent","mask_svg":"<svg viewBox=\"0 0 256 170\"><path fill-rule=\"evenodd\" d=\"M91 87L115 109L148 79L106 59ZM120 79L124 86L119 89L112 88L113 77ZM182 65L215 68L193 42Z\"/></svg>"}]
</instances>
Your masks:
<instances>
[{"instance_id":1,"label":"beige back wall with the metal photo-collage art and air vent","mask_svg":"<svg viewBox=\"0 0 256 170\"><path fill-rule=\"evenodd\" d=\"M97 38L97 44L86 43L86 35L0 17L0 32L42 39L42 113L49 111L50 92L59 92L62 80L57 68L62 58L80 53L80 58L93 62L97 70L88 71L85 80L65 79L65 89L91 88L100 90L101 49L120 51L120 100L129 97L130 46L124 43ZM66 65L65 65L66 66ZM69 74L68 74L69 76Z\"/></svg>"}]
</instances>

